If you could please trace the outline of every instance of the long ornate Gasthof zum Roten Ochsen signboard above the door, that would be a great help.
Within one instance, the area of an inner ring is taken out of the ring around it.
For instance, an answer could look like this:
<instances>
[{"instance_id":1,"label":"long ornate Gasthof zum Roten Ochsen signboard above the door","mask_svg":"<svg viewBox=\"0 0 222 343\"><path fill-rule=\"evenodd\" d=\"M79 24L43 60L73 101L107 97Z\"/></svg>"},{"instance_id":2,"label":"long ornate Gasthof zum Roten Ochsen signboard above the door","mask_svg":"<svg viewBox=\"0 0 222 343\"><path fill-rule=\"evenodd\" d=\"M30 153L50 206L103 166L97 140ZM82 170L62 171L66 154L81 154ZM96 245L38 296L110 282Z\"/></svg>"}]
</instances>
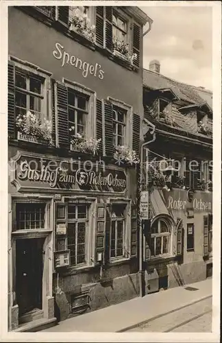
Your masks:
<instances>
[{"instance_id":1,"label":"long ornate Gasthof zum Roten Ochsen signboard above the door","mask_svg":"<svg viewBox=\"0 0 222 343\"><path fill-rule=\"evenodd\" d=\"M44 188L123 192L127 178L123 169L76 161L60 161L32 156L15 156L11 160L11 182L18 189Z\"/></svg>"}]
</instances>

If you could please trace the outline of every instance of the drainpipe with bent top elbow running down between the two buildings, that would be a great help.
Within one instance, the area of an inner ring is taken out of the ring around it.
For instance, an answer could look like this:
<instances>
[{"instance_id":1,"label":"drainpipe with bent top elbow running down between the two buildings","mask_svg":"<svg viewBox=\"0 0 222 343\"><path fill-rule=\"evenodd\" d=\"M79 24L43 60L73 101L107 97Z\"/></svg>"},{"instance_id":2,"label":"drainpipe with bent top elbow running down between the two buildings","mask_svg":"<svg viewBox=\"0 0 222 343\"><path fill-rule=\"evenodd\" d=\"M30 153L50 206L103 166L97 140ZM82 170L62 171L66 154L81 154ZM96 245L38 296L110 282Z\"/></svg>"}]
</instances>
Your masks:
<instances>
[{"instance_id":1,"label":"drainpipe with bent top elbow running down between the two buildings","mask_svg":"<svg viewBox=\"0 0 222 343\"><path fill-rule=\"evenodd\" d=\"M151 139L151 141L147 141L145 143L143 143L140 147L140 187L141 187L141 183L143 180L143 149L146 145L152 143L153 141L156 140L156 132L154 132L155 130L155 126L153 128L153 131L151 132L153 134L153 139ZM147 170L146 170L147 172ZM146 174L146 185L145 185L145 189L146 191L148 190L148 182L147 182L147 174ZM140 189L141 191L141 189ZM149 213L149 208L148 208L148 213ZM143 224L142 224L142 220L140 218L140 226L139 226L139 287L140 287L140 296L142 297L144 294L143 292L143 279L144 279L144 270L143 270Z\"/></svg>"}]
</instances>

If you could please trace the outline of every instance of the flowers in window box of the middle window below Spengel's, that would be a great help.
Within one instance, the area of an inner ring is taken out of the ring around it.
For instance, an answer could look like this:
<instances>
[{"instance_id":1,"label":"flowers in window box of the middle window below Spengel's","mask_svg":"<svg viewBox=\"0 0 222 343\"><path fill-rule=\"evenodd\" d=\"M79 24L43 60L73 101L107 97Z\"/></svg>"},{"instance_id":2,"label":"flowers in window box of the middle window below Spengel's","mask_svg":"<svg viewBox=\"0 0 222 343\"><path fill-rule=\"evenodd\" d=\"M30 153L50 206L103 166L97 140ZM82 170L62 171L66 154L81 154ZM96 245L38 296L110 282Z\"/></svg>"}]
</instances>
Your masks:
<instances>
[{"instance_id":1,"label":"flowers in window box of the middle window below Spengel's","mask_svg":"<svg viewBox=\"0 0 222 343\"><path fill-rule=\"evenodd\" d=\"M74 126L69 129L71 132L73 130ZM94 139L92 137L90 137L90 139L86 139L84 134L77 133L71 138L70 150L95 155L98 153L100 142L101 139Z\"/></svg>"}]
</instances>

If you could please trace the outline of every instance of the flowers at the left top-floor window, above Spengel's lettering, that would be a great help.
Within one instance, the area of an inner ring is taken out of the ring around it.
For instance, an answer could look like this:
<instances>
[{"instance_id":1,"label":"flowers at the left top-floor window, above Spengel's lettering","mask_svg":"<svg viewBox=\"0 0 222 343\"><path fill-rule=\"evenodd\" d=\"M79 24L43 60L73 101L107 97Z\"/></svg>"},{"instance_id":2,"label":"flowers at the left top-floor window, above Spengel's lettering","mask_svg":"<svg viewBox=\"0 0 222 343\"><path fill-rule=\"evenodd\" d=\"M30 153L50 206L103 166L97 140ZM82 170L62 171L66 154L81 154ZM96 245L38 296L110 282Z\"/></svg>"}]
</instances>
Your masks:
<instances>
[{"instance_id":1,"label":"flowers at the left top-floor window, above Spengel's lettering","mask_svg":"<svg viewBox=\"0 0 222 343\"><path fill-rule=\"evenodd\" d=\"M90 19L86 13L83 13L79 8L73 10L71 21L69 22L69 30L77 34L81 34L91 42L95 43L95 25L89 25Z\"/></svg>"}]
</instances>

